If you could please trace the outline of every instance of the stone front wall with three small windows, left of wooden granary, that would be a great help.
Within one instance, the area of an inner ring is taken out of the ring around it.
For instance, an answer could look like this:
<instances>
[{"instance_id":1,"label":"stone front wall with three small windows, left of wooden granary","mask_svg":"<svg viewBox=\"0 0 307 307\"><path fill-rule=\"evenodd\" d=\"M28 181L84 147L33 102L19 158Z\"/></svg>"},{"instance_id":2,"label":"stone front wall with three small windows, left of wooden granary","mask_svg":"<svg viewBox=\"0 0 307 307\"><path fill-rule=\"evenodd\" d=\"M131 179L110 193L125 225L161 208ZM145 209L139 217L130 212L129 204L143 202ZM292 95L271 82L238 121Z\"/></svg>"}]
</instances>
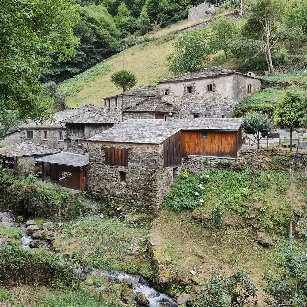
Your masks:
<instances>
[{"instance_id":1,"label":"stone front wall with three small windows, left of wooden granary","mask_svg":"<svg viewBox=\"0 0 307 307\"><path fill-rule=\"evenodd\" d=\"M27 130L33 131L33 139L27 139ZM47 140L44 140L44 131L47 132ZM59 140L59 131L63 132L63 139ZM20 127L21 142L33 142L50 148L66 150L65 130L57 127Z\"/></svg>"}]
</instances>

